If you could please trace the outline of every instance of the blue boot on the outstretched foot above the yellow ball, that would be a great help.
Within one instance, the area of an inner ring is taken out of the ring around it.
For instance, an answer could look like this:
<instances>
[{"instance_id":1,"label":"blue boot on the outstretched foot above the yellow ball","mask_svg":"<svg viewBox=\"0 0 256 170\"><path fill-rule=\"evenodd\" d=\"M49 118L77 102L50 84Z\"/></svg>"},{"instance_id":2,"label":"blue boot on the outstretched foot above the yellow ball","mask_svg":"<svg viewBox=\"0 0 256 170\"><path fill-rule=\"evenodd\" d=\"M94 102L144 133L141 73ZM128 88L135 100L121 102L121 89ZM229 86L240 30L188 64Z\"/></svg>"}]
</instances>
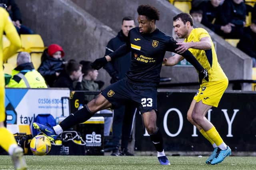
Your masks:
<instances>
[{"instance_id":1,"label":"blue boot on the outstretched foot above the yellow ball","mask_svg":"<svg viewBox=\"0 0 256 170\"><path fill-rule=\"evenodd\" d=\"M50 125L42 125L40 123L33 123L34 129L40 130L45 136L47 136L51 141L56 140L58 134L55 133L54 129Z\"/></svg>"}]
</instances>

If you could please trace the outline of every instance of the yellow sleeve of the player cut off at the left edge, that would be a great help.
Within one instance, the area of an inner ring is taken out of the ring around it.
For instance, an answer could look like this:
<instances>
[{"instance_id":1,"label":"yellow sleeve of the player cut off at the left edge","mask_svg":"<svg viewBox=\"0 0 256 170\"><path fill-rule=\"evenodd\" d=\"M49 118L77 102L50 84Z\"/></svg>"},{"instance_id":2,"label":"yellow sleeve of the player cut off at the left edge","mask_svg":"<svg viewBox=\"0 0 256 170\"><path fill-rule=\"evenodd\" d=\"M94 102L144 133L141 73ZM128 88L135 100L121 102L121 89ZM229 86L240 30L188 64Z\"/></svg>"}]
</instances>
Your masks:
<instances>
[{"instance_id":1,"label":"yellow sleeve of the player cut off at the left edge","mask_svg":"<svg viewBox=\"0 0 256 170\"><path fill-rule=\"evenodd\" d=\"M14 55L16 51L20 49L21 41L9 14L7 12L4 12L2 14L5 15L4 32L6 34L6 37L10 41L10 46L8 47L8 50L4 51L4 55L3 55L3 60L6 61L6 59Z\"/></svg>"}]
</instances>

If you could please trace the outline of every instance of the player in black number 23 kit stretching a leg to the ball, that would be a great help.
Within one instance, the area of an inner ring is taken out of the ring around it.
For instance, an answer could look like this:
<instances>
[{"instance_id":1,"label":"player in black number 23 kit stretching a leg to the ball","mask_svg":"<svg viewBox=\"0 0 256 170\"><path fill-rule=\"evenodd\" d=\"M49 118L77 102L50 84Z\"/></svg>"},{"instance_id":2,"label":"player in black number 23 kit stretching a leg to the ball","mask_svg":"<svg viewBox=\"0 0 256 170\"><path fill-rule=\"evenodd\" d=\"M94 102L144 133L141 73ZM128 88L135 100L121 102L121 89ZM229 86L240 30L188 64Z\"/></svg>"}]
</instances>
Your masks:
<instances>
[{"instance_id":1,"label":"player in black number 23 kit stretching a leg to the ball","mask_svg":"<svg viewBox=\"0 0 256 170\"><path fill-rule=\"evenodd\" d=\"M96 59L92 63L94 69L100 69L108 61L132 52L130 70L126 77L108 86L96 99L90 101L86 107L69 115L59 125L48 127L33 123L33 127L41 130L51 140L55 140L63 130L90 119L94 113L109 107L117 108L127 101L143 113L144 125L156 150L161 165L170 165L164 153L163 138L156 126L157 86L160 80L160 70L166 51L176 52L176 41L156 28L159 12L149 5L140 5L137 9L139 27L133 28L128 34L128 41L119 49ZM185 51L181 54L199 72L199 81L208 81L208 72L198 63L196 58Z\"/></svg>"}]
</instances>

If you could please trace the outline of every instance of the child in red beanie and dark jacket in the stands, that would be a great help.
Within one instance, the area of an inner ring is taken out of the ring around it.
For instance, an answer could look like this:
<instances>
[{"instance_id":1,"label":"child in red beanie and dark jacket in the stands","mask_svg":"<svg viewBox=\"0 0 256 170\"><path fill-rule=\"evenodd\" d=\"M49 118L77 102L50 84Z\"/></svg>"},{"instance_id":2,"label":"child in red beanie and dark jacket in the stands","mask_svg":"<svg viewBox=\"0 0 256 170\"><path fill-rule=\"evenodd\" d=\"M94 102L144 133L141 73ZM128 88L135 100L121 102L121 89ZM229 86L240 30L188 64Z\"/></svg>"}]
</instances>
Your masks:
<instances>
[{"instance_id":1,"label":"child in red beanie and dark jacket in the stands","mask_svg":"<svg viewBox=\"0 0 256 170\"><path fill-rule=\"evenodd\" d=\"M39 73L44 76L48 86L52 87L54 81L64 69L64 51L58 44L49 45L48 49L44 50L41 58L41 65L38 68Z\"/></svg>"}]
</instances>

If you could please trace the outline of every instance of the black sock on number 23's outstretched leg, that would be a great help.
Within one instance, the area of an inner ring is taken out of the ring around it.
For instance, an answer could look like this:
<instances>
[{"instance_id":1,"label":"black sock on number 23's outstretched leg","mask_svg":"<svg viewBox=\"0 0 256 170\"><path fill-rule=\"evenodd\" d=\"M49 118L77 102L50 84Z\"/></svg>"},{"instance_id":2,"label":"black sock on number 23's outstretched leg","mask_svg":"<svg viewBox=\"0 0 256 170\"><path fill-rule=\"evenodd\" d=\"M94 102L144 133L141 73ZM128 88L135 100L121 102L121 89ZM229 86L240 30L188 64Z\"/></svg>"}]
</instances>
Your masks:
<instances>
[{"instance_id":1,"label":"black sock on number 23's outstretched leg","mask_svg":"<svg viewBox=\"0 0 256 170\"><path fill-rule=\"evenodd\" d=\"M92 113L86 105L84 108L66 117L66 119L64 119L60 123L60 127L62 128L62 130L67 130L74 125L77 125L79 123L84 123L85 121L90 119L93 115L94 113Z\"/></svg>"}]
</instances>

